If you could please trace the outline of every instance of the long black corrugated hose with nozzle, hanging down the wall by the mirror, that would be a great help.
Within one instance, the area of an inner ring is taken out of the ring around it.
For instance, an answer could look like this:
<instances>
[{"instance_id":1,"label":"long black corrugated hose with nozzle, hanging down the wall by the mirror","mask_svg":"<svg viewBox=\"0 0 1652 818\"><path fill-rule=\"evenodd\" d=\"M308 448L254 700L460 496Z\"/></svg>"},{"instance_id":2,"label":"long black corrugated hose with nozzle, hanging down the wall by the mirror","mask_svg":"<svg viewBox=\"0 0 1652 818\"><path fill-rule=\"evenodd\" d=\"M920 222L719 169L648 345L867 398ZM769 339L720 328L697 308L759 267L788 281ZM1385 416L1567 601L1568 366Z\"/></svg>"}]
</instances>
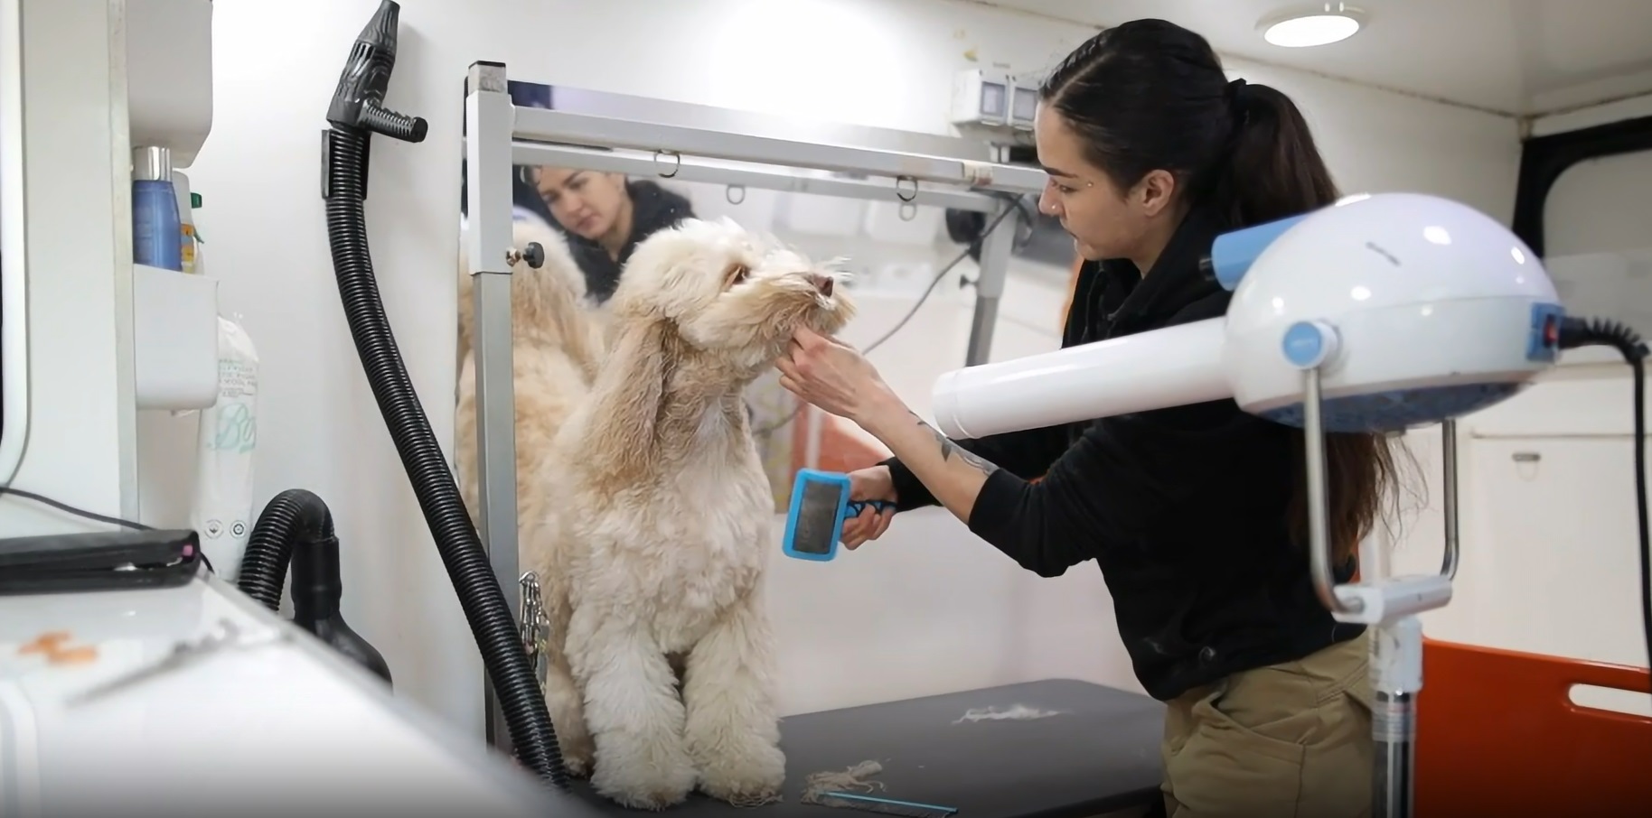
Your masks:
<instances>
[{"instance_id":1,"label":"long black corrugated hose with nozzle, hanging down the wall by the mirror","mask_svg":"<svg viewBox=\"0 0 1652 818\"><path fill-rule=\"evenodd\" d=\"M357 36L327 110L332 129L324 140L322 196L327 201L327 242L332 247L339 297L367 383L401 455L471 633L476 635L517 759L540 778L567 788L567 770L539 679L481 536L401 363L378 299L373 259L367 247L363 201L368 140L378 132L420 142L426 129L423 119L383 107L390 71L395 68L398 16L400 7L383 0L373 20Z\"/></svg>"}]
</instances>

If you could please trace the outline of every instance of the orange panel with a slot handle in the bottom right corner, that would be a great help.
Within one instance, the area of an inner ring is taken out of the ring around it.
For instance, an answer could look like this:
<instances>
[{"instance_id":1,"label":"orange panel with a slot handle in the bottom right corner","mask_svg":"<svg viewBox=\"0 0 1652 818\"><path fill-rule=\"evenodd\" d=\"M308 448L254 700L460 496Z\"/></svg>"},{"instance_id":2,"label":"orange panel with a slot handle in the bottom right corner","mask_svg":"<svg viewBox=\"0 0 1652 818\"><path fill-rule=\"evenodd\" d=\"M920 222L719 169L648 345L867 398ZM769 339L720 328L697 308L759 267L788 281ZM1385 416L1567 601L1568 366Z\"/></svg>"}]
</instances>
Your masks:
<instances>
[{"instance_id":1,"label":"orange panel with a slot handle in the bottom right corner","mask_svg":"<svg viewBox=\"0 0 1652 818\"><path fill-rule=\"evenodd\" d=\"M1573 684L1652 694L1645 668L1424 640L1416 811L1635 815L1652 803L1652 717L1583 708Z\"/></svg>"}]
</instances>

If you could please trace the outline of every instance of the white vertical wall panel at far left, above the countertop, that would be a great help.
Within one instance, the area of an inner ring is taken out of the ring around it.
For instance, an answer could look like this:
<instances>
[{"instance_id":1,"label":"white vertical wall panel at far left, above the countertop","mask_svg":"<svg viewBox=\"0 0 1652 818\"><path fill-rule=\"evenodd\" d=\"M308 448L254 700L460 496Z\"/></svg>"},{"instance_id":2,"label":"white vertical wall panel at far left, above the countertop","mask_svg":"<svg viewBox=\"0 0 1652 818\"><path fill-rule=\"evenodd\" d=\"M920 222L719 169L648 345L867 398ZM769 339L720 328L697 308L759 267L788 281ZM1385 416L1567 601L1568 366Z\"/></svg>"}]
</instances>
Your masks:
<instances>
[{"instance_id":1,"label":"white vertical wall panel at far left, above the countertop","mask_svg":"<svg viewBox=\"0 0 1652 818\"><path fill-rule=\"evenodd\" d=\"M10 487L101 515L137 515L131 343L131 152L124 86L111 86L122 53L119 20L101 0L28 0L20 33L28 247L30 429ZM15 25L15 0L3 3ZM63 59L63 43L84 53ZM10 56L10 54L8 54ZM7 66L10 74L10 66ZM10 74L5 81L17 82ZM8 112L10 114L10 112ZM7 185L18 185L8 178ZM7 200L7 266L21 213ZM23 373L7 373L7 386ZM8 424L17 419L8 417ZM8 429L17 434L17 429ZM79 518L0 496L0 531L84 531Z\"/></svg>"}]
</instances>

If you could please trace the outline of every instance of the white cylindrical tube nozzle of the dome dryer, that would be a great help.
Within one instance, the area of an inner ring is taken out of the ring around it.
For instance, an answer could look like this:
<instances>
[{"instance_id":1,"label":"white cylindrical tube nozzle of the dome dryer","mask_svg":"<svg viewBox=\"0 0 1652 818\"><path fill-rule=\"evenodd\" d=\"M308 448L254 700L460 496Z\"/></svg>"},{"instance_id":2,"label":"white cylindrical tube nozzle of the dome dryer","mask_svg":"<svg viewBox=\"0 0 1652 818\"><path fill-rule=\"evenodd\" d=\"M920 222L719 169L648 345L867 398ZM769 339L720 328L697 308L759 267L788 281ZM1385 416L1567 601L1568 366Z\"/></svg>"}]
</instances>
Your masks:
<instances>
[{"instance_id":1,"label":"white cylindrical tube nozzle of the dome dryer","mask_svg":"<svg viewBox=\"0 0 1652 818\"><path fill-rule=\"evenodd\" d=\"M937 427L973 439L1232 397L1224 328L1208 318L953 369L935 381Z\"/></svg>"}]
</instances>

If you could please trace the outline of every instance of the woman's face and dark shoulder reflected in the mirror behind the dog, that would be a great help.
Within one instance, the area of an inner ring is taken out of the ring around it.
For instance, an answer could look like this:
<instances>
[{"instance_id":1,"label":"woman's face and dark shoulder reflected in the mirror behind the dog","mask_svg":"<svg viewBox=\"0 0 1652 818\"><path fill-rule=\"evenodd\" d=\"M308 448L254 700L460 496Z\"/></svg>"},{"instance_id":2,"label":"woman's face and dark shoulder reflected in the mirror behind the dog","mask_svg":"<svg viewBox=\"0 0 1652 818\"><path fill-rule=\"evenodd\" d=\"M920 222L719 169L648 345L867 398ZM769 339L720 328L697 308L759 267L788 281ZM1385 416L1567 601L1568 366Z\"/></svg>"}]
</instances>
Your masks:
<instances>
[{"instance_id":1,"label":"woman's face and dark shoulder reflected in the mirror behind the dog","mask_svg":"<svg viewBox=\"0 0 1652 818\"><path fill-rule=\"evenodd\" d=\"M550 216L568 234L585 290L596 303L615 294L638 242L694 218L687 198L653 181L629 181L623 173L540 167L532 176Z\"/></svg>"}]
</instances>

